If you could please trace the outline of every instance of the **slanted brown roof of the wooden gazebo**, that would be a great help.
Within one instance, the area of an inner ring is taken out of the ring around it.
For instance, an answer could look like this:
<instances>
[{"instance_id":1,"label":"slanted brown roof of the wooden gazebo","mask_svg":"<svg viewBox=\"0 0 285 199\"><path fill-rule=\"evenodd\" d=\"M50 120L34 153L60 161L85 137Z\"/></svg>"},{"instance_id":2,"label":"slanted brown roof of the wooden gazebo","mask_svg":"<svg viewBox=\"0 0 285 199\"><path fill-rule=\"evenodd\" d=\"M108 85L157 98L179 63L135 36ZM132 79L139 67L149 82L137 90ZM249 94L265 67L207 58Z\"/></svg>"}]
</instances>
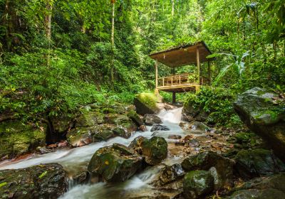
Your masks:
<instances>
[{"instance_id":1,"label":"slanted brown roof of the wooden gazebo","mask_svg":"<svg viewBox=\"0 0 285 199\"><path fill-rule=\"evenodd\" d=\"M195 64L197 63L197 48L199 48L199 61L201 63L212 60L207 59L207 56L212 53L204 41L170 48L158 53L152 53L150 54L150 58L172 68Z\"/></svg>"}]
</instances>

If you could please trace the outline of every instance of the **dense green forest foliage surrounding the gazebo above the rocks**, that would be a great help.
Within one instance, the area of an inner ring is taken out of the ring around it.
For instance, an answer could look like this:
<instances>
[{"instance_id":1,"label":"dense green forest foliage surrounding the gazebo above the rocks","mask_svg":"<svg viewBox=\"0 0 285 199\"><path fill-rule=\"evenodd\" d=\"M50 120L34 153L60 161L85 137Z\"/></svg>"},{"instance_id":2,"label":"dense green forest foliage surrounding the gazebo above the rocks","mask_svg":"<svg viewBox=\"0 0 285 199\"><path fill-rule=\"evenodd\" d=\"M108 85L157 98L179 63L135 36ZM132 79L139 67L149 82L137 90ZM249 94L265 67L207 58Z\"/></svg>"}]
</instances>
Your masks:
<instances>
[{"instance_id":1,"label":"dense green forest foliage surrounding the gazebo above the rocks","mask_svg":"<svg viewBox=\"0 0 285 199\"><path fill-rule=\"evenodd\" d=\"M256 85L284 91L284 4L118 0L113 46L109 1L1 0L1 120L46 119L74 114L90 103L132 102L138 92L155 87L150 52L200 40L216 57L211 77L215 86L234 93ZM159 69L161 76L171 73L164 65ZM195 67L176 72L189 71ZM198 102L213 111L214 121L223 123L232 101L217 102L225 93L221 90L202 90ZM170 95L163 95L170 101Z\"/></svg>"}]
</instances>

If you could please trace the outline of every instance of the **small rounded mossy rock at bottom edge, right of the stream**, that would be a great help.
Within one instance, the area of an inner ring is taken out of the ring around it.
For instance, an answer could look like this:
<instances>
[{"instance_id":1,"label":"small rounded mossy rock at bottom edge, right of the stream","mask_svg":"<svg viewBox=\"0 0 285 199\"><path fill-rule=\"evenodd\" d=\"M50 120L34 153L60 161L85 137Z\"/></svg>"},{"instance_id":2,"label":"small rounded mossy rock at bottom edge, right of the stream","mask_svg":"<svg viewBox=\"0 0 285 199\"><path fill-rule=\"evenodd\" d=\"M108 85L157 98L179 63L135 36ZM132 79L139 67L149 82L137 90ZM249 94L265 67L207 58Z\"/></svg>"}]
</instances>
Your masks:
<instances>
[{"instance_id":1,"label":"small rounded mossy rock at bottom edge, right of the stream","mask_svg":"<svg viewBox=\"0 0 285 199\"><path fill-rule=\"evenodd\" d=\"M190 171L183 178L186 199L202 198L214 190L214 178L209 171Z\"/></svg>"}]
</instances>

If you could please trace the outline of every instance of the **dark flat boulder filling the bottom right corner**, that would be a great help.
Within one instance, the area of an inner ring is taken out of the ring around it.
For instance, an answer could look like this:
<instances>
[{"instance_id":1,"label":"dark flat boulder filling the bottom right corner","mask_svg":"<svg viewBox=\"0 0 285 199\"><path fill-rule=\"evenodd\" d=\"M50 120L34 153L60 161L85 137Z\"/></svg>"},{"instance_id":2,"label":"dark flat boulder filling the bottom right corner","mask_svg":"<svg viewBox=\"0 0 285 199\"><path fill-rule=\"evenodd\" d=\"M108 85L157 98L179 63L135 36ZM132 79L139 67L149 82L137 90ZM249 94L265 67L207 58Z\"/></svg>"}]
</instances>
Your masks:
<instances>
[{"instance_id":1,"label":"dark flat boulder filling the bottom right corner","mask_svg":"<svg viewBox=\"0 0 285 199\"><path fill-rule=\"evenodd\" d=\"M285 194L285 173L248 181L227 199L283 199Z\"/></svg>"}]
</instances>

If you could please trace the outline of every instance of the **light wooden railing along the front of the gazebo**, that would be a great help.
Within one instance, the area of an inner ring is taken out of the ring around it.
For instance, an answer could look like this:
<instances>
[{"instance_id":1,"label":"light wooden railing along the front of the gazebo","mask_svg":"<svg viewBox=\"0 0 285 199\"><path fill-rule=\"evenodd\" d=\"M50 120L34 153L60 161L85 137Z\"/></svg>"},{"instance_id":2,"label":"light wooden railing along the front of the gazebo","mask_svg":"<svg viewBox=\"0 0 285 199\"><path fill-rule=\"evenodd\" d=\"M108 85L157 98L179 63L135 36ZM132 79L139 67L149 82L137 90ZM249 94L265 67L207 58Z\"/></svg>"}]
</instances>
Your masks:
<instances>
[{"instance_id":1,"label":"light wooden railing along the front of the gazebo","mask_svg":"<svg viewBox=\"0 0 285 199\"><path fill-rule=\"evenodd\" d=\"M158 78L157 87L175 87L181 85L199 85L197 74L187 73L182 75L171 75L168 77Z\"/></svg>"}]
</instances>

